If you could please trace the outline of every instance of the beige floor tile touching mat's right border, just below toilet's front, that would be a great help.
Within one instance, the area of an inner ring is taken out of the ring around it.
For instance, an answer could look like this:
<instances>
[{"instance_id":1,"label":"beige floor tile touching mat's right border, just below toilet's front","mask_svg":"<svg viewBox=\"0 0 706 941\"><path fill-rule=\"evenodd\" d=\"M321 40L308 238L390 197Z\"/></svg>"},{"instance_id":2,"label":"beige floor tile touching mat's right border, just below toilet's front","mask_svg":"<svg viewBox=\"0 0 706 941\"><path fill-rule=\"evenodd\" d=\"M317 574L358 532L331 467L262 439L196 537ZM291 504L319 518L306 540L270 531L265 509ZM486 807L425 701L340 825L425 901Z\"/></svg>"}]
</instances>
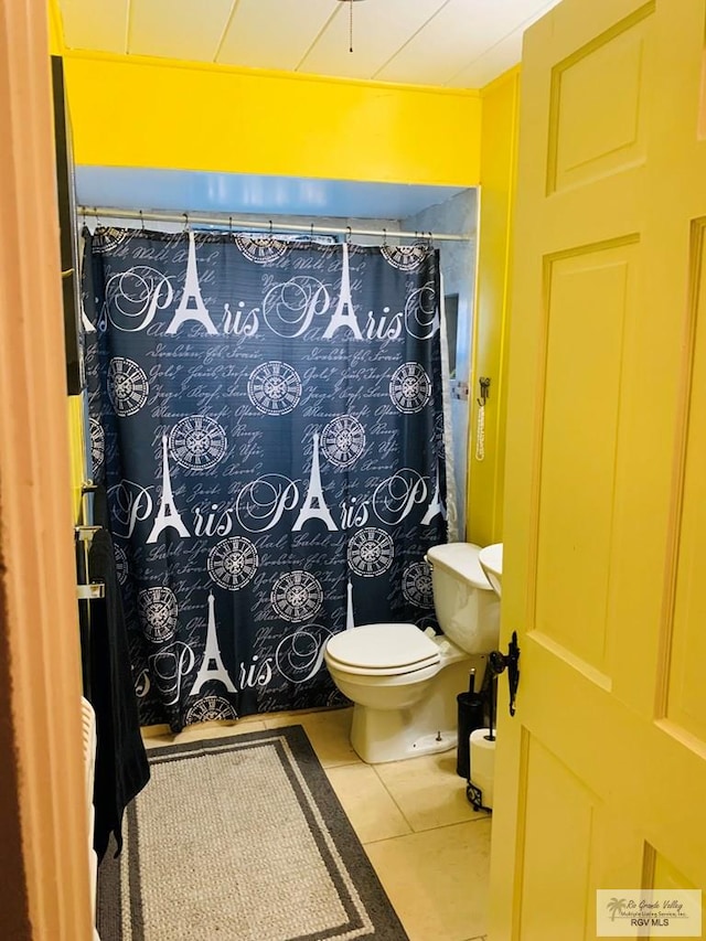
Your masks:
<instances>
[{"instance_id":1,"label":"beige floor tile touching mat's right border, just below toilet's front","mask_svg":"<svg viewBox=\"0 0 706 941\"><path fill-rule=\"evenodd\" d=\"M370 764L339 764L327 776L361 843L411 833Z\"/></svg>"}]
</instances>

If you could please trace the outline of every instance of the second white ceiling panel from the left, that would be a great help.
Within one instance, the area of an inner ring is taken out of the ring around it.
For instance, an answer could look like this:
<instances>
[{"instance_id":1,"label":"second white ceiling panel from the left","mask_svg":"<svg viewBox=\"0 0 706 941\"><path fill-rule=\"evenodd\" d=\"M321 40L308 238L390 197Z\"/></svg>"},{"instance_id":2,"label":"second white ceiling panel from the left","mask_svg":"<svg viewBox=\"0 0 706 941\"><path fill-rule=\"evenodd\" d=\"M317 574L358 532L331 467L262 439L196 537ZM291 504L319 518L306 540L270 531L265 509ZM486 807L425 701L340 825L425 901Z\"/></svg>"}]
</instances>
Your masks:
<instances>
[{"instance_id":1,"label":"second white ceiling panel from the left","mask_svg":"<svg viewBox=\"0 0 706 941\"><path fill-rule=\"evenodd\" d=\"M128 52L212 62L232 7L233 0L132 0Z\"/></svg>"}]
</instances>

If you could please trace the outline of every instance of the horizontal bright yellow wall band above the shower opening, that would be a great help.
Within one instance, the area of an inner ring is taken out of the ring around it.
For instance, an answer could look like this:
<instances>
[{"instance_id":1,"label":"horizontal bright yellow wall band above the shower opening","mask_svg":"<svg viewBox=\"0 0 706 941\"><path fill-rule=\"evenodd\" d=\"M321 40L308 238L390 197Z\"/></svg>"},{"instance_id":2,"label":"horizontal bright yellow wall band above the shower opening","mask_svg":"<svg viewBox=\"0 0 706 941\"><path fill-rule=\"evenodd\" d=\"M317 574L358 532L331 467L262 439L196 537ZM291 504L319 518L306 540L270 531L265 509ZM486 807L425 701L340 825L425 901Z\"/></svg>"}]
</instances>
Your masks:
<instances>
[{"instance_id":1,"label":"horizontal bright yellow wall band above the shower opening","mask_svg":"<svg viewBox=\"0 0 706 941\"><path fill-rule=\"evenodd\" d=\"M76 163L469 186L475 90L65 52Z\"/></svg>"}]
</instances>

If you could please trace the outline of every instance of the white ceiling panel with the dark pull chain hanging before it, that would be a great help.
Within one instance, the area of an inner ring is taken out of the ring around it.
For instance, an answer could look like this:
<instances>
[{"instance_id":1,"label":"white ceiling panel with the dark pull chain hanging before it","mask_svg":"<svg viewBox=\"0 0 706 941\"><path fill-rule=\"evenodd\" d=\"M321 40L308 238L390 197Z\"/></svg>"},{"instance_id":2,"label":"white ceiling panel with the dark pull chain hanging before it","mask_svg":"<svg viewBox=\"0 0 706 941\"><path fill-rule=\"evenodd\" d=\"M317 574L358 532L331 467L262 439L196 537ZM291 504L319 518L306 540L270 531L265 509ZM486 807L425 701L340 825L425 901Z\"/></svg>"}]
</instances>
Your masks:
<instances>
[{"instance_id":1,"label":"white ceiling panel with the dark pull chain hanging before it","mask_svg":"<svg viewBox=\"0 0 706 941\"><path fill-rule=\"evenodd\" d=\"M353 6L353 52L349 52L347 3L336 3L334 17L319 36L300 72L370 78L382 68L393 51L408 42L448 0L371 0Z\"/></svg>"}]
</instances>

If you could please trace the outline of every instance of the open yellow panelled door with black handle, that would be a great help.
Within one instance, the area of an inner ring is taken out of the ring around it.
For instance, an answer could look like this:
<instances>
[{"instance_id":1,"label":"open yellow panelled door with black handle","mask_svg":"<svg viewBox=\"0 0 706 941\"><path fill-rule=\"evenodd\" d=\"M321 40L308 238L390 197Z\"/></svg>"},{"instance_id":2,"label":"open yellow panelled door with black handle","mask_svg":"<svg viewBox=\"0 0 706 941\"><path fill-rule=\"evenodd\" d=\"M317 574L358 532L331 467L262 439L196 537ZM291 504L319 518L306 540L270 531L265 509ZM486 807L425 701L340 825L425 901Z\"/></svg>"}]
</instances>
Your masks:
<instances>
[{"instance_id":1,"label":"open yellow panelled door with black handle","mask_svg":"<svg viewBox=\"0 0 706 941\"><path fill-rule=\"evenodd\" d=\"M705 35L564 0L525 38L491 941L706 890Z\"/></svg>"}]
</instances>

